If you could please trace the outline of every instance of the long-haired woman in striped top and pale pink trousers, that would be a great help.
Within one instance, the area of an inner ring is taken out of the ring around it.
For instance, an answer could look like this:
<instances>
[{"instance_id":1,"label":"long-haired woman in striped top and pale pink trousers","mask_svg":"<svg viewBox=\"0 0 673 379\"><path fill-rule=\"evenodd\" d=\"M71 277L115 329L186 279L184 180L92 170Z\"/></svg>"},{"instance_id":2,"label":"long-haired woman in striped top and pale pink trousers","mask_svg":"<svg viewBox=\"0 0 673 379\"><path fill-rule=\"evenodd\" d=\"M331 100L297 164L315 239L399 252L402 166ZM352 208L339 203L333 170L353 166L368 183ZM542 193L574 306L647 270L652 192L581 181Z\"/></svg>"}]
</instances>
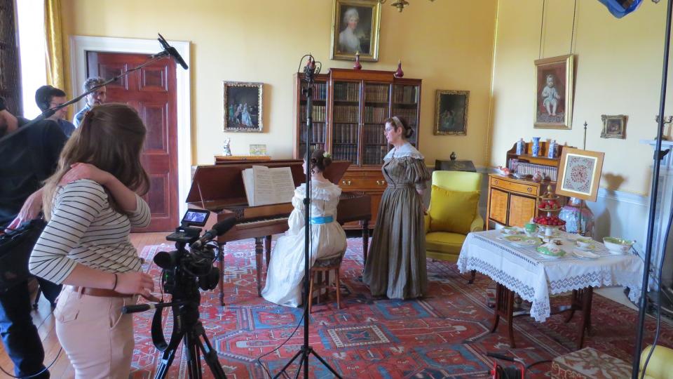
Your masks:
<instances>
[{"instance_id":1,"label":"long-haired woman in striped top and pale pink trousers","mask_svg":"<svg viewBox=\"0 0 673 379\"><path fill-rule=\"evenodd\" d=\"M149 187L140 164L146 133L127 105L93 107L43 189L48 224L29 268L67 284L54 315L76 378L128 378L133 324L121 307L154 289L128 237L131 227L149 224L149 207L136 194Z\"/></svg>"}]
</instances>

